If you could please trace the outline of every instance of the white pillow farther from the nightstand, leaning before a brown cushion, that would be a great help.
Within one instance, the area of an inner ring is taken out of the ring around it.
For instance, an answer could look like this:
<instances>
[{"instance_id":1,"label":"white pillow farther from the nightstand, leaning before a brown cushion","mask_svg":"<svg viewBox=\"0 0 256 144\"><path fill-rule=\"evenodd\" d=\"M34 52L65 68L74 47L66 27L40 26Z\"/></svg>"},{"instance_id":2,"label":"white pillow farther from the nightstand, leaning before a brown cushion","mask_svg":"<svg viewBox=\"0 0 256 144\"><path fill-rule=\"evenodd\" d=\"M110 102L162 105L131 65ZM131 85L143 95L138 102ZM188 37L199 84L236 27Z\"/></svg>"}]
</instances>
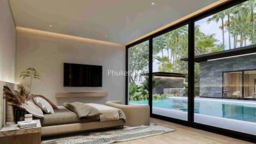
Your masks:
<instances>
[{"instance_id":1,"label":"white pillow farther from the nightstand, leaning before a brown cushion","mask_svg":"<svg viewBox=\"0 0 256 144\"><path fill-rule=\"evenodd\" d=\"M49 102L47 102L42 97L34 97L33 100L34 100L35 104L37 106L39 106L45 113L47 113L47 114L54 113L51 104L49 104Z\"/></svg>"}]
</instances>

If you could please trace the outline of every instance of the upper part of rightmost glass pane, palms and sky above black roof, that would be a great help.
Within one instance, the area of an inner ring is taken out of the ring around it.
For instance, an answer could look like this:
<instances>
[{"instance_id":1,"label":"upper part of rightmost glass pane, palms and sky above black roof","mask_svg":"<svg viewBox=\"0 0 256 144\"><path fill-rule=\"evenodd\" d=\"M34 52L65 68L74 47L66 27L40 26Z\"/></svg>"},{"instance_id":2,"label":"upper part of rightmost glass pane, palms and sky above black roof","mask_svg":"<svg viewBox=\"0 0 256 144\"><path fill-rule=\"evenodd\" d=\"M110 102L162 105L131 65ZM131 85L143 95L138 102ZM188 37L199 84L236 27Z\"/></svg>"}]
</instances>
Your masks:
<instances>
[{"instance_id":1,"label":"upper part of rightmost glass pane, palms and sky above black roof","mask_svg":"<svg viewBox=\"0 0 256 144\"><path fill-rule=\"evenodd\" d=\"M196 21L195 55L254 45L256 43L255 1L238 4Z\"/></svg>"}]
</instances>

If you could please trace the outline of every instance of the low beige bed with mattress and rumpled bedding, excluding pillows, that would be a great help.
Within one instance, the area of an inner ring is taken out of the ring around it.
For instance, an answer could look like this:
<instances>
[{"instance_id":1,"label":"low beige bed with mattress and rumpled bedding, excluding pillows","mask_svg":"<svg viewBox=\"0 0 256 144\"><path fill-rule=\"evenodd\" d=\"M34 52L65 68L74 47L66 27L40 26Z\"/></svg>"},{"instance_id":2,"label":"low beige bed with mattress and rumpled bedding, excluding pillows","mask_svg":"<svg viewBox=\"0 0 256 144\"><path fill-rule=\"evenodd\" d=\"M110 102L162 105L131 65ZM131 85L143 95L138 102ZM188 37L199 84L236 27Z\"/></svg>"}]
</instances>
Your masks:
<instances>
[{"instance_id":1,"label":"low beige bed with mattress and rumpled bedding, excluding pillows","mask_svg":"<svg viewBox=\"0 0 256 144\"><path fill-rule=\"evenodd\" d=\"M111 127L122 128L125 120L124 112L118 108L103 104L65 102L63 106L54 109L54 113L44 114L44 117L40 118L41 135L51 136Z\"/></svg>"}]
</instances>

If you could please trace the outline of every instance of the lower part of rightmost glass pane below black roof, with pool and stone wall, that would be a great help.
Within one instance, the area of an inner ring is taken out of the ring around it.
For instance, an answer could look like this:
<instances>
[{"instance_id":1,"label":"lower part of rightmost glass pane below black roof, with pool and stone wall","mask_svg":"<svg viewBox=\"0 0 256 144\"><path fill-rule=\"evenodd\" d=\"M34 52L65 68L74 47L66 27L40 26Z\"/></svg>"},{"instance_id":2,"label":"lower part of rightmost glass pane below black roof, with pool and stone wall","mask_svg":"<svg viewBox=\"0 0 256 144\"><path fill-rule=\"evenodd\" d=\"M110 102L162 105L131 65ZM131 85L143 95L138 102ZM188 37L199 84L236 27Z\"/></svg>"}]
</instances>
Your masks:
<instances>
[{"instance_id":1,"label":"lower part of rightmost glass pane below black roof, with pool and stone wall","mask_svg":"<svg viewBox=\"0 0 256 144\"><path fill-rule=\"evenodd\" d=\"M256 54L196 65L194 121L256 135Z\"/></svg>"}]
</instances>

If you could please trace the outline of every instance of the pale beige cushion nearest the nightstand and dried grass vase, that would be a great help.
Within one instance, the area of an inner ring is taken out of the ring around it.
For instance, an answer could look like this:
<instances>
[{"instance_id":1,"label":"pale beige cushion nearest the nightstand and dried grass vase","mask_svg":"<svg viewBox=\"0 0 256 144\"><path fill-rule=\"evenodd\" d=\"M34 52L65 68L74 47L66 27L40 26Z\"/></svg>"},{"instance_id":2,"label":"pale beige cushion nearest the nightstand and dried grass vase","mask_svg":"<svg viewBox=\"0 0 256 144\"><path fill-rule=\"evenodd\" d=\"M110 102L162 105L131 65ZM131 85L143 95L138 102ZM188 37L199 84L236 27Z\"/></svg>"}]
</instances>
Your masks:
<instances>
[{"instance_id":1,"label":"pale beige cushion nearest the nightstand and dried grass vase","mask_svg":"<svg viewBox=\"0 0 256 144\"><path fill-rule=\"evenodd\" d=\"M38 117L38 118L44 117L44 113L43 113L42 109L40 109L38 106L36 106L36 104L32 100L27 101L24 104L24 108L26 109L26 111L28 111L35 117Z\"/></svg>"}]
</instances>

